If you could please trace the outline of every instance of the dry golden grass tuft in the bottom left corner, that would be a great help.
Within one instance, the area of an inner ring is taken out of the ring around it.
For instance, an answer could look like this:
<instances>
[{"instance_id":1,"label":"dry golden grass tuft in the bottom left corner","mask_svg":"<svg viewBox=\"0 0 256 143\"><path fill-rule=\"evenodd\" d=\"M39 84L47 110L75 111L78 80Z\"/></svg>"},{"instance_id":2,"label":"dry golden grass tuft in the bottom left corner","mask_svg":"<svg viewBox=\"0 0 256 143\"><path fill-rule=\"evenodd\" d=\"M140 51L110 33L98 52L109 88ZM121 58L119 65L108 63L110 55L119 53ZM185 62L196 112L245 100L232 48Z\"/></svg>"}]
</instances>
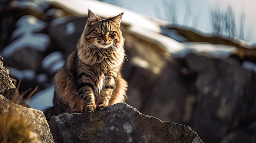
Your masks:
<instances>
[{"instance_id":1,"label":"dry golden grass tuft in the bottom left corner","mask_svg":"<svg viewBox=\"0 0 256 143\"><path fill-rule=\"evenodd\" d=\"M17 88L20 86L20 81ZM20 96L11 99L11 102L19 104L22 97L32 89L21 92ZM32 90L25 102L29 102L31 96L36 92L37 86ZM40 143L38 137L32 132L32 126L27 123L27 118L21 115L19 108L14 108L10 103L9 112L2 112L4 106L0 106L0 143Z\"/></svg>"}]
</instances>

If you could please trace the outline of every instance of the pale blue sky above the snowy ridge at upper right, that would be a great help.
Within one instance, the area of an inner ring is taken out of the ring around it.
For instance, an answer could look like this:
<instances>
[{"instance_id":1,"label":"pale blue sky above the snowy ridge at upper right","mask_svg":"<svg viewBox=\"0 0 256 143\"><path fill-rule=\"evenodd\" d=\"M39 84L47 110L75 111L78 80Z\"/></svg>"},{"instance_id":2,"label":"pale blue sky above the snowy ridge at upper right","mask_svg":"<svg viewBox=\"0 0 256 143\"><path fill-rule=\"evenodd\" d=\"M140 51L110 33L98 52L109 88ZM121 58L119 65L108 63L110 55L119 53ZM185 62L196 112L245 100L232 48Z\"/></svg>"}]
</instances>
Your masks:
<instances>
[{"instance_id":1,"label":"pale blue sky above the snowy ridge at upper right","mask_svg":"<svg viewBox=\"0 0 256 143\"><path fill-rule=\"evenodd\" d=\"M210 11L216 7L225 10L228 5L231 5L237 20L240 18L240 13L245 13L245 36L249 42L256 43L256 0L119 0L121 7L157 18L160 15L164 18L164 2L175 5L178 24L205 31L212 30ZM185 13L189 14L185 15Z\"/></svg>"}]
</instances>

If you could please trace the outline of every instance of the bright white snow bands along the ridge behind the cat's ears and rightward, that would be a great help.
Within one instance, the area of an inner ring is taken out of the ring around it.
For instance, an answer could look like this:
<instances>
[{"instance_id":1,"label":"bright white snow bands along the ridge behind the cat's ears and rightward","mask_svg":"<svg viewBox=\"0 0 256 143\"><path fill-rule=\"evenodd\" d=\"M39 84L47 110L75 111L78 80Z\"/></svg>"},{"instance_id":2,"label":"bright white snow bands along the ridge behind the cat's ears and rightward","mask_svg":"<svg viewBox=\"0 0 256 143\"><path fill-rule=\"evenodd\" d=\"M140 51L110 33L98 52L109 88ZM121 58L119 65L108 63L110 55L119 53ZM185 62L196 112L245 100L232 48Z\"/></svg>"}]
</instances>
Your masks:
<instances>
[{"instance_id":1,"label":"bright white snow bands along the ridge behind the cat's ears and rightward","mask_svg":"<svg viewBox=\"0 0 256 143\"><path fill-rule=\"evenodd\" d=\"M160 26L167 24L168 22L153 20L144 15L97 0L73 0L72 4L70 4L70 1L65 0L47 0L47 2L52 2L58 4L60 7L65 7L67 11L78 16L87 15L88 9L102 17L115 16L124 12L122 24L128 26L129 29L126 32L135 34L142 39L150 40L175 57L184 57L190 52L203 53L214 57L228 57L229 54L236 52L235 47L220 44L196 42L180 43L179 41L187 40L186 37L178 35L174 30L164 29ZM61 21L62 20L58 19L54 24L58 24ZM70 31L72 31L72 27L70 27L70 29ZM69 30L67 30L66 33L69 33L68 31Z\"/></svg>"}]
</instances>

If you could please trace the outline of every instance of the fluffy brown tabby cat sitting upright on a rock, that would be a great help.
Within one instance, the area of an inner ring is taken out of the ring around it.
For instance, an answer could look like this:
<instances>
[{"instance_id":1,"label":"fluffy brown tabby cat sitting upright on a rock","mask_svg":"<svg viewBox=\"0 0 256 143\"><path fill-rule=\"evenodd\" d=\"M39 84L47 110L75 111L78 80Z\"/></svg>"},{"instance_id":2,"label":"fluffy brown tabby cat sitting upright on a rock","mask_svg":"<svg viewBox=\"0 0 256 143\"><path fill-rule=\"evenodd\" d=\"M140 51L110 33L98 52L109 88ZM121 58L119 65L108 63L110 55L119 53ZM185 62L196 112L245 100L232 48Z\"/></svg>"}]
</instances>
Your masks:
<instances>
[{"instance_id":1,"label":"fluffy brown tabby cat sitting upright on a rock","mask_svg":"<svg viewBox=\"0 0 256 143\"><path fill-rule=\"evenodd\" d=\"M53 115L99 110L125 102L127 82L121 76L125 58L121 13L101 18L88 9L88 21L76 48L54 77Z\"/></svg>"}]
</instances>

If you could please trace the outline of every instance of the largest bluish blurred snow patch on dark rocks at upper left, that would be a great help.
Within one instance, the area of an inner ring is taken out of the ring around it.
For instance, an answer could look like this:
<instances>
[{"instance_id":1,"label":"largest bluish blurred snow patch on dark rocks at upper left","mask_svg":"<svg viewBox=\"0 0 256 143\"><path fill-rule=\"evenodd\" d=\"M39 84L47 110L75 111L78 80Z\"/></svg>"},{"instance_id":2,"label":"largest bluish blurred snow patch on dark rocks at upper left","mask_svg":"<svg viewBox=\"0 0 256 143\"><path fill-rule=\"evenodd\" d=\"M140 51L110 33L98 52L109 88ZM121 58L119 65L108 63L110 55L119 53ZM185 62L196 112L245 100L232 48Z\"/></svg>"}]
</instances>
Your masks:
<instances>
[{"instance_id":1,"label":"largest bluish blurred snow patch on dark rocks at upper left","mask_svg":"<svg viewBox=\"0 0 256 143\"><path fill-rule=\"evenodd\" d=\"M10 57L13 53L18 52L25 47L33 48L40 52L46 50L50 43L49 37L43 33L34 33L45 28L45 22L33 15L25 15L18 20L17 26L18 28L13 31L11 38L15 39L18 37L18 39L6 46L1 51L1 56L5 58Z\"/></svg>"}]
</instances>

